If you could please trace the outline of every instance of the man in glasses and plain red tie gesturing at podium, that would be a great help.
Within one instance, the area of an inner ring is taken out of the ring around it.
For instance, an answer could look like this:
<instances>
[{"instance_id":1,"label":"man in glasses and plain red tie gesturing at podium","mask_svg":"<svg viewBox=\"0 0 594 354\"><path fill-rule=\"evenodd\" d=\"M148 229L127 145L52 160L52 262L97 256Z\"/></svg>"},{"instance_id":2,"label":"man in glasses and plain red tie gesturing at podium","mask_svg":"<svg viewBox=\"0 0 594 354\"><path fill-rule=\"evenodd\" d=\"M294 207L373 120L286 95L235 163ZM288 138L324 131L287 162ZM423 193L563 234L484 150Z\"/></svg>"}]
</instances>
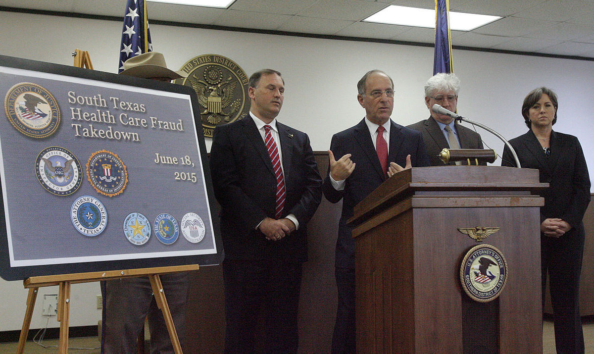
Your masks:
<instances>
[{"instance_id":1,"label":"man in glasses and plain red tie gesturing at podium","mask_svg":"<svg viewBox=\"0 0 594 354\"><path fill-rule=\"evenodd\" d=\"M355 352L355 241L352 226L346 225L353 216L353 207L388 176L411 166L429 166L421 133L390 119L394 106L392 79L382 71L372 70L359 80L357 89L365 118L332 137L329 173L323 185L328 201L343 200L336 242L339 298L333 353ZM340 158L335 160L334 156Z\"/></svg>"}]
</instances>

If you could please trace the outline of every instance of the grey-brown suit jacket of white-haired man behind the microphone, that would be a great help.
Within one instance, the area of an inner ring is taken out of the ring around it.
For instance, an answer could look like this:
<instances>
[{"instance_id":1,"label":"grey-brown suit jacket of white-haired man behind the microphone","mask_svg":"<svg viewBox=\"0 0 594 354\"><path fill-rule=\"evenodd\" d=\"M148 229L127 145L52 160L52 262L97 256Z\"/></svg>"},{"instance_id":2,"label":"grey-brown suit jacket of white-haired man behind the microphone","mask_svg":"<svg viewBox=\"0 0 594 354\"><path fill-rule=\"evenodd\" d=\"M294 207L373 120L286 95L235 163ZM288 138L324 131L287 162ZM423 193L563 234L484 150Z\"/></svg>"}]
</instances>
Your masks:
<instances>
[{"instance_id":1,"label":"grey-brown suit jacket of white-haired man behind the microphone","mask_svg":"<svg viewBox=\"0 0 594 354\"><path fill-rule=\"evenodd\" d=\"M483 148L481 135L472 129L463 127L458 124L458 122L455 124L458 138L460 140L460 148ZM429 117L429 119L425 119L425 121L416 122L408 127L422 132L431 166L445 166L443 161L438 157L438 154L444 148L449 148L450 144L445 140L444 134L441 131L440 126L437 124L437 121L435 121L433 117ZM448 165L456 165L456 163L450 162ZM463 165L466 165L466 162L463 162ZM481 165L486 165L486 162L482 162Z\"/></svg>"}]
</instances>

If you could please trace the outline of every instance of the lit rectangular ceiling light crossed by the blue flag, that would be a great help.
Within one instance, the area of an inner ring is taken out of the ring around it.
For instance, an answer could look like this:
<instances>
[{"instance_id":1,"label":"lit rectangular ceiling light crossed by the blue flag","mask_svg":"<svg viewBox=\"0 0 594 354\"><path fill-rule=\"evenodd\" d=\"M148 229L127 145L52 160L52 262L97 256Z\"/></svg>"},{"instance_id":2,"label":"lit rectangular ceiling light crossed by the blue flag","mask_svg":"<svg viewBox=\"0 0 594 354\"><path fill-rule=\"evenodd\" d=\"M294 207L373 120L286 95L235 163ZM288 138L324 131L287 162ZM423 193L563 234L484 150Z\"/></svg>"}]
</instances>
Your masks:
<instances>
[{"instance_id":1,"label":"lit rectangular ceiling light crossed by the blue flag","mask_svg":"<svg viewBox=\"0 0 594 354\"><path fill-rule=\"evenodd\" d=\"M465 12L450 11L450 29L456 31L470 31L500 18L500 16L466 14ZM365 18L363 21L434 29L435 10L390 5L384 10Z\"/></svg>"}]
</instances>

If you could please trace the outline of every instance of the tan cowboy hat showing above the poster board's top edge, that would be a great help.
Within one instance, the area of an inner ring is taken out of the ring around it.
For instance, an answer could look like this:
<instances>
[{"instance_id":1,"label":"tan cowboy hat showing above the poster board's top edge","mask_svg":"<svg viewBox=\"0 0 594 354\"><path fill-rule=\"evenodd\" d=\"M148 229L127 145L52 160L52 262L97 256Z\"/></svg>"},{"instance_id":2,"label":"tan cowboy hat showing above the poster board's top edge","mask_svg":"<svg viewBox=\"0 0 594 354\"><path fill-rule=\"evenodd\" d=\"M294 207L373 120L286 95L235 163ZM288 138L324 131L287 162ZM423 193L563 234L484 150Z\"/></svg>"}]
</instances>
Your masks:
<instances>
[{"instance_id":1,"label":"tan cowboy hat showing above the poster board's top edge","mask_svg":"<svg viewBox=\"0 0 594 354\"><path fill-rule=\"evenodd\" d=\"M121 75L135 77L168 77L171 80L176 78L188 77L184 71L173 71L167 68L165 57L159 52L147 52L137 56L132 56L124 62L124 71Z\"/></svg>"}]
</instances>

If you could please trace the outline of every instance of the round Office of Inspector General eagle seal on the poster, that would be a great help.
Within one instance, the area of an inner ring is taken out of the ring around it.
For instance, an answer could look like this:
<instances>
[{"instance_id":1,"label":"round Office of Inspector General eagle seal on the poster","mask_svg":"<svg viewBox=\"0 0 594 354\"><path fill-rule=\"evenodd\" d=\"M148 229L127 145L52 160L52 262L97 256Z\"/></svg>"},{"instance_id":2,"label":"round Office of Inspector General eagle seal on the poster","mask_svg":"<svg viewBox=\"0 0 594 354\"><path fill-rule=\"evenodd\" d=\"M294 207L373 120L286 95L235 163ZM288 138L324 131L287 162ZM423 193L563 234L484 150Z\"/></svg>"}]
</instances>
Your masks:
<instances>
[{"instance_id":1,"label":"round Office of Inspector General eagle seal on the poster","mask_svg":"<svg viewBox=\"0 0 594 354\"><path fill-rule=\"evenodd\" d=\"M83 169L74 154L59 146L43 149L35 162L35 173L46 191L71 195L83 182Z\"/></svg>"}]
</instances>

